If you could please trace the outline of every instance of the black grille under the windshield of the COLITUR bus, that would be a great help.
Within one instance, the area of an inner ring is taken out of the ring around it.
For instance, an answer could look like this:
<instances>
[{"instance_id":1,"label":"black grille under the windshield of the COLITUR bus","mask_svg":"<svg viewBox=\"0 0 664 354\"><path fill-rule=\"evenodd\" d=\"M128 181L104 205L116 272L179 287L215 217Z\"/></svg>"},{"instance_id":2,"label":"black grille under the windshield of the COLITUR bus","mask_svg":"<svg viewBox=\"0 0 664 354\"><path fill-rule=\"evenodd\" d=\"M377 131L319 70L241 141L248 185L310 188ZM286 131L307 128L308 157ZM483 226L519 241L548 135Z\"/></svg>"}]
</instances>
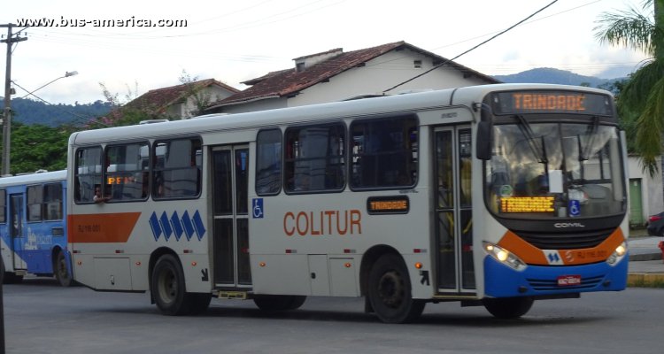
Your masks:
<instances>
[{"instance_id":1,"label":"black grille under the windshield of the COLITUR bus","mask_svg":"<svg viewBox=\"0 0 664 354\"><path fill-rule=\"evenodd\" d=\"M515 231L516 235L540 250L589 249L604 242L613 232L614 228L571 234Z\"/></svg>"}]
</instances>

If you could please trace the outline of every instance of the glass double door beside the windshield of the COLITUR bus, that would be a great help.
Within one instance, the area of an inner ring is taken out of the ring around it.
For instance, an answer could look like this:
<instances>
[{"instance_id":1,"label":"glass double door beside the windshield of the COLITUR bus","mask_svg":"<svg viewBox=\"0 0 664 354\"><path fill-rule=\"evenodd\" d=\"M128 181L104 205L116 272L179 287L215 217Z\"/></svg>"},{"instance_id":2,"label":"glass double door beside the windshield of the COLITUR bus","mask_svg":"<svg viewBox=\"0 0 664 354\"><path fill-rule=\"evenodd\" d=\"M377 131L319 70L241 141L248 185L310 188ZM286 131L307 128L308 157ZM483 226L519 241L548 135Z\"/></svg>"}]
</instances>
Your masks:
<instances>
[{"instance_id":1,"label":"glass double door beside the windshield of the COLITUR bus","mask_svg":"<svg viewBox=\"0 0 664 354\"><path fill-rule=\"evenodd\" d=\"M441 295L475 292L470 127L434 131L436 286Z\"/></svg>"}]
</instances>

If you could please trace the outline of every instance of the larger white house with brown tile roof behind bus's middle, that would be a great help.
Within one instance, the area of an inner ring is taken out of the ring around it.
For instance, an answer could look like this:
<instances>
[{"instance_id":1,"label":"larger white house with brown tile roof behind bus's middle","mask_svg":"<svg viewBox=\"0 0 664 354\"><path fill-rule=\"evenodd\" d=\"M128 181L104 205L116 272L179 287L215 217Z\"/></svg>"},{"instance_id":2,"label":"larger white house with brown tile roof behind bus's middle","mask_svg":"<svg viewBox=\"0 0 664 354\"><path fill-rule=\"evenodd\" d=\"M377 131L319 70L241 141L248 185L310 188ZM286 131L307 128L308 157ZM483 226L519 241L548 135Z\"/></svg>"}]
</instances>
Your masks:
<instances>
[{"instance_id":1,"label":"larger white house with brown tile roof behind bus's middle","mask_svg":"<svg viewBox=\"0 0 664 354\"><path fill-rule=\"evenodd\" d=\"M263 111L500 82L406 42L348 52L338 48L293 61L290 69L242 82L251 87L210 104L205 113Z\"/></svg>"}]
</instances>

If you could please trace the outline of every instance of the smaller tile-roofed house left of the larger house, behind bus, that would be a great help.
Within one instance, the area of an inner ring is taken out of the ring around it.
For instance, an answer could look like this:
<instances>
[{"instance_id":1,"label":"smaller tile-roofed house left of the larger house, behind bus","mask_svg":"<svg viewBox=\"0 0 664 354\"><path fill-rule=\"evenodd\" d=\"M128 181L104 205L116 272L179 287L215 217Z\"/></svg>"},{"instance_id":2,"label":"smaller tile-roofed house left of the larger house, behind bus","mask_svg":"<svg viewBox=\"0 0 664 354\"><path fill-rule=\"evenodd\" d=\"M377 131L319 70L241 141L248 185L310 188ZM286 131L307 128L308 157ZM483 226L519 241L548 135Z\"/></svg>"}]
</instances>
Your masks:
<instances>
[{"instance_id":1,"label":"smaller tile-roofed house left of the larger house, behind bus","mask_svg":"<svg viewBox=\"0 0 664 354\"><path fill-rule=\"evenodd\" d=\"M123 109L148 113L153 119L189 119L201 108L238 93L239 90L214 79L192 81L162 89L151 89Z\"/></svg>"}]
</instances>

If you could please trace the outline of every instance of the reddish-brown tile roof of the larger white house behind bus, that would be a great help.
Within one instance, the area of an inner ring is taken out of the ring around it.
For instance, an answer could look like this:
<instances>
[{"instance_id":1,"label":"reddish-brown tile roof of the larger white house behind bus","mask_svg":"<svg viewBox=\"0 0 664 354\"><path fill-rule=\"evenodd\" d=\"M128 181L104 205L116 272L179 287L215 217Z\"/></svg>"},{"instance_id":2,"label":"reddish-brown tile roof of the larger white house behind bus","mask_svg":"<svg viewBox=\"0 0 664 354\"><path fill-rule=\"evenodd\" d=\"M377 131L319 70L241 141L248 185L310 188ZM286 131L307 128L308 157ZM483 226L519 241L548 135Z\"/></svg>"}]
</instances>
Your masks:
<instances>
[{"instance_id":1,"label":"reddish-brown tile roof of the larger white house behind bus","mask_svg":"<svg viewBox=\"0 0 664 354\"><path fill-rule=\"evenodd\" d=\"M401 41L382 44L377 47L367 48L364 50L342 52L341 49L336 49L328 50L324 53L319 53L328 54L334 51L340 52L340 54L338 54L336 57L328 58L327 60L324 60L316 65L309 66L304 71L297 71L296 68L291 68L267 73L266 75L259 78L244 81L244 84L252 85L251 88L244 89L243 91L238 92L233 96L229 96L225 99L212 103L208 106L208 109L229 104L241 104L265 98L294 95L302 89L309 88L321 81L328 80L329 78L339 73L343 73L344 71L349 70L355 66L362 65L367 61L373 58L377 58L391 50L400 49L413 50L428 57L434 58L435 65L446 62L447 64L445 65L450 65L461 72L472 74L480 79L483 79L484 81L490 83L499 82L488 75L476 72L475 70L472 70L466 66L448 61L446 58L440 57L427 50L422 50L413 46L412 44ZM294 60L310 58L319 54L308 55L296 58Z\"/></svg>"}]
</instances>

